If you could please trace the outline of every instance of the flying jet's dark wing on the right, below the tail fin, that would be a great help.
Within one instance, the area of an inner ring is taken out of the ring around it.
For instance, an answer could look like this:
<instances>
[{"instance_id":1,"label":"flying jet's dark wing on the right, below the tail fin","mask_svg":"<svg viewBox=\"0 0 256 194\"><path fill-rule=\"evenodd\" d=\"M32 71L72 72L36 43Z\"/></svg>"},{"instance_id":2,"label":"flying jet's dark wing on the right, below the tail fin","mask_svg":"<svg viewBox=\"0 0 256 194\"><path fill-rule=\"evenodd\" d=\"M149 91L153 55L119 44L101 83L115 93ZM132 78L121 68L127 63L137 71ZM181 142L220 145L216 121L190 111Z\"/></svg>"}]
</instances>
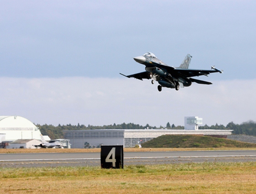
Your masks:
<instances>
[{"instance_id":1,"label":"flying jet's dark wing on the right, below the tail fin","mask_svg":"<svg viewBox=\"0 0 256 194\"><path fill-rule=\"evenodd\" d=\"M215 73L215 72L222 73L222 71L220 71L219 69L201 70L201 69L180 69L180 68L173 69L173 72L175 74L180 74L181 76L185 76L187 78L200 76L200 75L208 76L209 74Z\"/></svg>"}]
</instances>

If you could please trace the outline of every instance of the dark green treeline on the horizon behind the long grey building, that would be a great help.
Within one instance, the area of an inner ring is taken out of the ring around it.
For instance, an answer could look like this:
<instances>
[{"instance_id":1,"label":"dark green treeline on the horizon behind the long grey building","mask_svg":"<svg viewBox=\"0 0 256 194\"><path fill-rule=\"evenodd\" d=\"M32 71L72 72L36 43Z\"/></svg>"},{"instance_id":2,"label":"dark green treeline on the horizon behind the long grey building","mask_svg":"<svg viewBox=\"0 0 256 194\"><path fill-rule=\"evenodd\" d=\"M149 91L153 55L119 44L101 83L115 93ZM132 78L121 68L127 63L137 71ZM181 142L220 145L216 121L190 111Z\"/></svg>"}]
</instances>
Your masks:
<instances>
[{"instance_id":1,"label":"dark green treeline on the horizon behind the long grey building","mask_svg":"<svg viewBox=\"0 0 256 194\"><path fill-rule=\"evenodd\" d=\"M39 127L42 135L48 135L51 139L63 139L64 134L63 130L90 130L90 129L184 129L184 126L175 126L170 125L168 122L165 127L160 126L160 127L155 127L155 126L142 126L142 125L136 125L134 123L122 123L116 125L104 125L104 126L92 126L92 125L58 125L58 126L53 126L53 125L36 125ZM233 130L232 134L236 135L253 135L256 136L256 122L250 120L248 122L244 122L242 124L235 124L233 122L230 122L227 124L227 126L224 125L204 125L204 126L199 126L199 129L219 129L219 130Z\"/></svg>"}]
</instances>

